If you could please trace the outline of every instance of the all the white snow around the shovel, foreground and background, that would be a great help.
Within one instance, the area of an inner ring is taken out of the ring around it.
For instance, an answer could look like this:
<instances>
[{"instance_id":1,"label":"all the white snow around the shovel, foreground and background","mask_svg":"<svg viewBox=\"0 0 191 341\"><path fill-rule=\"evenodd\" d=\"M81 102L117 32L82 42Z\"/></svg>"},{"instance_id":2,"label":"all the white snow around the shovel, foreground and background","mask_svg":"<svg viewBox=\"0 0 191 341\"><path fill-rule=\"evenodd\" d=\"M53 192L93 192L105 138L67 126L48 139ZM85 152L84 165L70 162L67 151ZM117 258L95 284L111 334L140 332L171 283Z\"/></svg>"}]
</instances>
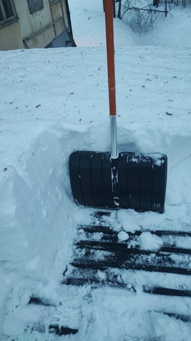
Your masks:
<instances>
[{"instance_id":1,"label":"all the white snow around the shovel, foreground and background","mask_svg":"<svg viewBox=\"0 0 191 341\"><path fill-rule=\"evenodd\" d=\"M148 298L140 287L152 281L150 273L124 272L136 296L105 287L93 290L89 301L89 289L59 284L73 254L77 225L93 219L92 209L73 202L68 156L78 149L110 150L102 0L70 0L69 6L80 47L0 52L0 340L56 340L30 331L58 318L79 329L64 340L189 341L189 323L154 309L191 315L190 298ZM152 43L149 35L140 41L114 20L119 151L168 156L164 214L120 210L111 221L122 231L128 226L132 231L190 230L191 48L190 36L185 38L190 15L189 8L177 8L173 17L160 19L161 31L149 34ZM167 28L178 31L177 40L173 33L166 38ZM147 38L148 45L159 46L144 46ZM162 245L144 233L140 246ZM190 239L179 243L191 248ZM188 276L157 274L158 281L191 288ZM26 305L31 296L61 303L60 308L36 310Z\"/></svg>"}]
</instances>

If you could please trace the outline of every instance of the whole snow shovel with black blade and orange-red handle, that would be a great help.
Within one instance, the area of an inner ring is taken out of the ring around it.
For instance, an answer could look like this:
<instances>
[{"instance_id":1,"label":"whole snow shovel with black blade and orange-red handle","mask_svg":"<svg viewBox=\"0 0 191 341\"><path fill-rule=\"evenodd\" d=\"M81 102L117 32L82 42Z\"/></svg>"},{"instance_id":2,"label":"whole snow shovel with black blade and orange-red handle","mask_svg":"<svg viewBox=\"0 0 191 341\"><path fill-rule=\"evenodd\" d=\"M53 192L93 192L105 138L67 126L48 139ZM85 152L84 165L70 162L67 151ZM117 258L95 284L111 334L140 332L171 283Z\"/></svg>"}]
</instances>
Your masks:
<instances>
[{"instance_id":1,"label":"whole snow shovel with black blade and orange-red handle","mask_svg":"<svg viewBox=\"0 0 191 341\"><path fill-rule=\"evenodd\" d=\"M76 204L163 213L167 157L117 149L113 1L105 0L111 152L73 152L69 174Z\"/></svg>"}]
</instances>

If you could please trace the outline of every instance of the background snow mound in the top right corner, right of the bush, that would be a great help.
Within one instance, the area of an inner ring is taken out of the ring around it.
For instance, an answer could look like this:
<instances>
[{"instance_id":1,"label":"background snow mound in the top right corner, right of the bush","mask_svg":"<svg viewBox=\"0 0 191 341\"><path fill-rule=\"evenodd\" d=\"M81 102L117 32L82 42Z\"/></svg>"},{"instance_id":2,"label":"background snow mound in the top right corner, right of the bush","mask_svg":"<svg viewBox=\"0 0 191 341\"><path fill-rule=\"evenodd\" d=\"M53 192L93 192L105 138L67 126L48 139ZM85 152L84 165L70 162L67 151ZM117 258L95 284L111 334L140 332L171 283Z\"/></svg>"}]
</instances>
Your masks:
<instances>
[{"instance_id":1,"label":"background snow mound in the top right corner, right of the bush","mask_svg":"<svg viewBox=\"0 0 191 341\"><path fill-rule=\"evenodd\" d=\"M160 8L159 8L160 9ZM153 31L142 37L143 44L166 48L191 48L191 7L182 9L181 5L173 8L165 18L160 14L154 23Z\"/></svg>"}]
</instances>

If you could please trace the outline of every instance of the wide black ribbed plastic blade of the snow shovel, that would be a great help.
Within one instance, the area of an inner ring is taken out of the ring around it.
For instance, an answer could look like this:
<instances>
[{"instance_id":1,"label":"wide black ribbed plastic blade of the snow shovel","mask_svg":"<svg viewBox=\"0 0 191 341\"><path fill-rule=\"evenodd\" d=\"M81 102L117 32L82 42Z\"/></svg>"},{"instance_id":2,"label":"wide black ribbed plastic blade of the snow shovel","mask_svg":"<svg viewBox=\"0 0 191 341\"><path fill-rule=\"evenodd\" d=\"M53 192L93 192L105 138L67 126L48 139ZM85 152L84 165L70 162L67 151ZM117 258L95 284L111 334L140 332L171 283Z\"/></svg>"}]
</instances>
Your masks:
<instances>
[{"instance_id":1,"label":"wide black ribbed plastic blade of the snow shovel","mask_svg":"<svg viewBox=\"0 0 191 341\"><path fill-rule=\"evenodd\" d=\"M119 153L115 190L109 152L73 152L69 157L69 173L72 194L78 205L164 211L167 177L164 154Z\"/></svg>"}]
</instances>

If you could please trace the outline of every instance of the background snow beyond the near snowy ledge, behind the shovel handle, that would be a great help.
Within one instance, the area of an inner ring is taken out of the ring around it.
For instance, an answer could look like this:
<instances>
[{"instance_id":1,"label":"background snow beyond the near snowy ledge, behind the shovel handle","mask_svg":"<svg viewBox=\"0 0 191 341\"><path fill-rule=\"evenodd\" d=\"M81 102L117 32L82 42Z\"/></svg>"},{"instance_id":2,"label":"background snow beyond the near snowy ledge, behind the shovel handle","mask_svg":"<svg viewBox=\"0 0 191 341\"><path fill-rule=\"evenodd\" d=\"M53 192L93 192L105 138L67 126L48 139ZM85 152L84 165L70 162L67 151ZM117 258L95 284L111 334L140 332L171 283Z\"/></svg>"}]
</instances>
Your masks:
<instances>
[{"instance_id":1,"label":"background snow beyond the near snowy ledge, behind the shovel handle","mask_svg":"<svg viewBox=\"0 0 191 341\"><path fill-rule=\"evenodd\" d=\"M123 14L123 3L122 10ZM77 46L101 46L106 44L105 16L103 13L103 1L96 0L69 0L72 29ZM126 14L122 20L114 19L115 46L152 45L164 48L190 48L190 22L191 5L187 8L171 3L171 10L165 18L164 13L159 13L153 23L153 30L139 37L126 25ZM116 4L116 15L117 15ZM164 10L164 4L160 4L159 10Z\"/></svg>"}]
</instances>

